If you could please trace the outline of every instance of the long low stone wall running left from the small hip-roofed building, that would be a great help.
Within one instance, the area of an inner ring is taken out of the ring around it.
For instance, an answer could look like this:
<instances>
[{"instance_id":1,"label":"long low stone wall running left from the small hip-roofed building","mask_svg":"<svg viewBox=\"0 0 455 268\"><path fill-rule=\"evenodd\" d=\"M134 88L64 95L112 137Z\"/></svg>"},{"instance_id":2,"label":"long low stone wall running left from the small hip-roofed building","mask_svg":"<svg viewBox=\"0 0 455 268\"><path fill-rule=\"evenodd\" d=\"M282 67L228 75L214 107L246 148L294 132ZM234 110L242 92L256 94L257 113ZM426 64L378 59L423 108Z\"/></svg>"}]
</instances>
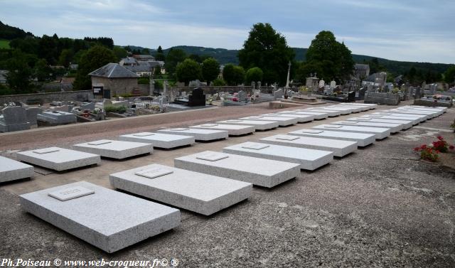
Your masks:
<instances>
[{"instance_id":1,"label":"long low stone wall running left from the small hip-roofed building","mask_svg":"<svg viewBox=\"0 0 455 268\"><path fill-rule=\"evenodd\" d=\"M28 100L42 100L44 103L55 101L85 101L93 99L92 90L68 91L68 92L49 92L21 95L0 96L0 104L9 102L23 102Z\"/></svg>"}]
</instances>

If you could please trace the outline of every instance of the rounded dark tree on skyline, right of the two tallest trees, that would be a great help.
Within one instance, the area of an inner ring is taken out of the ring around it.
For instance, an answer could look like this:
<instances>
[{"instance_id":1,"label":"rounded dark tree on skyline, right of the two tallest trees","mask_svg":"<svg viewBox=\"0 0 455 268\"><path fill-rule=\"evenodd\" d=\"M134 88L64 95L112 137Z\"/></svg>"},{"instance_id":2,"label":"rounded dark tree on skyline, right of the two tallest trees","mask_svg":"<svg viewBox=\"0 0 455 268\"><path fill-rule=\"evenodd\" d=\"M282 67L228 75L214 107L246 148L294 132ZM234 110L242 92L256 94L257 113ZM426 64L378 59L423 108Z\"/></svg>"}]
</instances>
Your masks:
<instances>
[{"instance_id":1,"label":"rounded dark tree on skyline, right of the two tallest trees","mask_svg":"<svg viewBox=\"0 0 455 268\"><path fill-rule=\"evenodd\" d=\"M318 73L324 80L343 82L353 73L354 60L348 47L338 43L331 31L321 31L306 50L306 65L306 68L314 67L311 73ZM304 74L299 74L299 77L302 76Z\"/></svg>"}]
</instances>

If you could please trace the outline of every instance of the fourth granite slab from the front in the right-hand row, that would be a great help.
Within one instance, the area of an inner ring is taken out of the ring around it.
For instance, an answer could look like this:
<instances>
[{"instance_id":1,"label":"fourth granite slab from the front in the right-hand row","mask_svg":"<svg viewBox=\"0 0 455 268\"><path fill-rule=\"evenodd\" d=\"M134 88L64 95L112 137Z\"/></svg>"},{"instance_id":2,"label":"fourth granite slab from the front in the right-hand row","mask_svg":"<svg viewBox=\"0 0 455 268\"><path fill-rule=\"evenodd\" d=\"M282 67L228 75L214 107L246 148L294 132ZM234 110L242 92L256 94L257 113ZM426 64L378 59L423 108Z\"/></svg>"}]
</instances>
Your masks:
<instances>
[{"instance_id":1,"label":"fourth granite slab from the front in the right-hand row","mask_svg":"<svg viewBox=\"0 0 455 268\"><path fill-rule=\"evenodd\" d=\"M301 169L313 171L333 160L332 151L296 148L275 144L261 144L257 142L244 142L223 148L227 154L259 157L277 161L300 164Z\"/></svg>"}]
</instances>

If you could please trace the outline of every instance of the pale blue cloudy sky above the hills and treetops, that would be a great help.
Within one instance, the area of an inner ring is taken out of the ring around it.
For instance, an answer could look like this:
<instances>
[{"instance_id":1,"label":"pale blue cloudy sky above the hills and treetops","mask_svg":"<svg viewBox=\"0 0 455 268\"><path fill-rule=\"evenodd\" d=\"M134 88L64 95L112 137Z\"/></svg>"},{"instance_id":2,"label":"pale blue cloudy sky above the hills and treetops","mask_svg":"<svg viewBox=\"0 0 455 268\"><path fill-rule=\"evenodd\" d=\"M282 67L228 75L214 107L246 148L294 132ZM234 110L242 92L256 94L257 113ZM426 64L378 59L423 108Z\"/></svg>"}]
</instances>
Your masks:
<instances>
[{"instance_id":1,"label":"pale blue cloudy sky above the hills and treetops","mask_svg":"<svg viewBox=\"0 0 455 268\"><path fill-rule=\"evenodd\" d=\"M37 36L109 36L117 45L242 48L268 22L292 47L319 31L355 54L455 63L454 0L0 0L0 20Z\"/></svg>"}]
</instances>

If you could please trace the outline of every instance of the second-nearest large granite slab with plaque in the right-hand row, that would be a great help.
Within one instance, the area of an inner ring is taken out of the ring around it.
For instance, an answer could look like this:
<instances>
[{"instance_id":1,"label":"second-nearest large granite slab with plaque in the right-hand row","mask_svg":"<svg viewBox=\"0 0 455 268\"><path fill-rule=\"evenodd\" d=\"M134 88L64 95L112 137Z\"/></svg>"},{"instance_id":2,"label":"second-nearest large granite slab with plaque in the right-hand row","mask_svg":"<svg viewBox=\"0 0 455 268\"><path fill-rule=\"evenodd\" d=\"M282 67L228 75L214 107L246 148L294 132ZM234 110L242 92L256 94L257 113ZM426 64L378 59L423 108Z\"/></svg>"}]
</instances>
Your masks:
<instances>
[{"instance_id":1,"label":"second-nearest large granite slab with plaque in the right-hand row","mask_svg":"<svg viewBox=\"0 0 455 268\"><path fill-rule=\"evenodd\" d=\"M203 215L228 208L252 193L251 183L159 164L111 174L109 181L114 188Z\"/></svg>"}]
</instances>

